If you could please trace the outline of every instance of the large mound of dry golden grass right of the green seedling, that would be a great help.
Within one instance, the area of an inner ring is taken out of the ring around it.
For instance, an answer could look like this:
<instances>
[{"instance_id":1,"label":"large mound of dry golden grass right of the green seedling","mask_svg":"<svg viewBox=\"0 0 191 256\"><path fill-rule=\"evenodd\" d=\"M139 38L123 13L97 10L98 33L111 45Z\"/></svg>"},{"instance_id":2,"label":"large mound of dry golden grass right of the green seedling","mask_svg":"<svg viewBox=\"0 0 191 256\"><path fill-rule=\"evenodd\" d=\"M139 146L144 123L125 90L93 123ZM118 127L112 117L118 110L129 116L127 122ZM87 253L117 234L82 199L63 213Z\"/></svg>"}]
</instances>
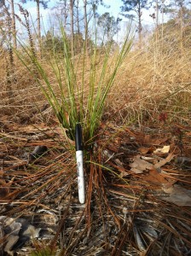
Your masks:
<instances>
[{"instance_id":1,"label":"large mound of dry golden grass right of the green seedling","mask_svg":"<svg viewBox=\"0 0 191 256\"><path fill-rule=\"evenodd\" d=\"M185 48L181 55L173 44L169 47L165 50L161 40L153 39L131 52L113 86L107 112L124 123L148 115L155 119L162 111L180 121L190 117L191 52Z\"/></svg>"}]
</instances>

